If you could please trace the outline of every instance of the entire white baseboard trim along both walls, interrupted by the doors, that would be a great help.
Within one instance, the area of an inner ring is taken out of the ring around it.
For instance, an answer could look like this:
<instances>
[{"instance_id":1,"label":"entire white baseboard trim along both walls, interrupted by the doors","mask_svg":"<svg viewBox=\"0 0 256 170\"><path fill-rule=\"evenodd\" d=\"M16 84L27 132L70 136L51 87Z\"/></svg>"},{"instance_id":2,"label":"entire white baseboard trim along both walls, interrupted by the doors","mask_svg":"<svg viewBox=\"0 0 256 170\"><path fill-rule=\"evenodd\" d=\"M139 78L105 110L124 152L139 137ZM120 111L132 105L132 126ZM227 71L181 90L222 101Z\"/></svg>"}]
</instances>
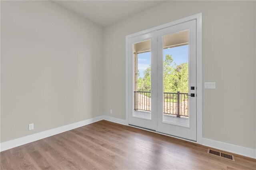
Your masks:
<instances>
[{"instance_id":1,"label":"entire white baseboard trim along both walls, interrupted by the doors","mask_svg":"<svg viewBox=\"0 0 256 170\"><path fill-rule=\"evenodd\" d=\"M21 138L16 138L16 139L13 139L13 140L2 142L0 144L0 151L2 152L4 150L10 149L10 148L14 148L14 147L17 147L17 146L20 146L20 145L23 145L23 144L34 142L36 140L40 140L40 139L43 139L43 138L46 138L46 137L49 137L49 136L53 136L55 134L66 132L68 130L72 130L74 128L82 127L82 126L85 126L85 125L88 125L88 124L91 124L91 123L94 123L94 122L98 122L98 121L101 121L101 120L106 120L106 121L118 123L118 124L121 124L121 125L126 125L126 120L103 115L103 116L95 117L95 118L92 118L92 119L87 119L87 120L84 120L84 121L72 123L70 125L65 125L65 126L62 126L62 127L46 130L44 132L39 132L39 133L36 133L36 134L31 134L31 135L24 136L24 137L21 137ZM254 158L254 159L256 158L256 150L251 149L251 148L246 148L246 147L237 146L237 145L234 145L234 144L228 144L228 143L224 143L224 142L219 142L219 141L216 141L216 140L211 140L211 139L206 139L206 138L203 138L202 145L208 146L208 147L211 147L211 148L216 148L216 149L219 149L219 150L224 150L226 152L231 152L231 153L234 153L234 154L247 156L247 157Z\"/></svg>"}]
</instances>

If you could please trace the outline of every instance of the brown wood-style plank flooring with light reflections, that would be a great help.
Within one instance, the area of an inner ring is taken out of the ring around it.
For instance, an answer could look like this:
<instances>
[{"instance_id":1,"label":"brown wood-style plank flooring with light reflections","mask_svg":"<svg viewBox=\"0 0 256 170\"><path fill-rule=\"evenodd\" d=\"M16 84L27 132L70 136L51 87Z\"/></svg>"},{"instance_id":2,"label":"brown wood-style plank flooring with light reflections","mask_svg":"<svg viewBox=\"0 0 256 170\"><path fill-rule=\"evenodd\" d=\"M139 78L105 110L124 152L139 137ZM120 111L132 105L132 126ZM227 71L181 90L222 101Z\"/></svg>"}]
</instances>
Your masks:
<instances>
[{"instance_id":1,"label":"brown wood-style plank flooring with light reflections","mask_svg":"<svg viewBox=\"0 0 256 170\"><path fill-rule=\"evenodd\" d=\"M152 169L256 170L256 160L235 162L208 147L109 121L99 121L0 153L1 170Z\"/></svg>"}]
</instances>

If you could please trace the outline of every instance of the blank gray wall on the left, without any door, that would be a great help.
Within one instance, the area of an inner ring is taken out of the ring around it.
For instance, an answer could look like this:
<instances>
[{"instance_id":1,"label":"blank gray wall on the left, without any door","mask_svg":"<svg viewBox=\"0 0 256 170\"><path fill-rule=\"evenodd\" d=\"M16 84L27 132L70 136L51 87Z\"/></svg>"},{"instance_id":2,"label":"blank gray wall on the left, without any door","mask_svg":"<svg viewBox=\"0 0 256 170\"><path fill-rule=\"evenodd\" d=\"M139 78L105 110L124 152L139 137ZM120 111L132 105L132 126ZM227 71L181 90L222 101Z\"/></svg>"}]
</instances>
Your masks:
<instances>
[{"instance_id":1,"label":"blank gray wall on the left, without any door","mask_svg":"<svg viewBox=\"0 0 256 170\"><path fill-rule=\"evenodd\" d=\"M50 1L1 1L1 142L102 115L102 38Z\"/></svg>"}]
</instances>

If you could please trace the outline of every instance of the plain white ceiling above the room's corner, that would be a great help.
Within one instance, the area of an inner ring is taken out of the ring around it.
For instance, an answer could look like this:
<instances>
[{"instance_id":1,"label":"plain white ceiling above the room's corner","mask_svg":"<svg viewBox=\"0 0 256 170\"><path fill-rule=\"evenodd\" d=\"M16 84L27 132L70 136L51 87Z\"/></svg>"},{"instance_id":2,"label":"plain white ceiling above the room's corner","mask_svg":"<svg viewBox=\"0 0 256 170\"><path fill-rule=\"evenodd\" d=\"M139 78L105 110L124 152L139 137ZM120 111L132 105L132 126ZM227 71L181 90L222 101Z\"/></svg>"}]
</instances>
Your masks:
<instances>
[{"instance_id":1,"label":"plain white ceiling above the room's corner","mask_svg":"<svg viewBox=\"0 0 256 170\"><path fill-rule=\"evenodd\" d=\"M102 27L138 14L165 1L162 0L124 0L124 1L84 1L53 0L55 4L66 8Z\"/></svg>"}]
</instances>

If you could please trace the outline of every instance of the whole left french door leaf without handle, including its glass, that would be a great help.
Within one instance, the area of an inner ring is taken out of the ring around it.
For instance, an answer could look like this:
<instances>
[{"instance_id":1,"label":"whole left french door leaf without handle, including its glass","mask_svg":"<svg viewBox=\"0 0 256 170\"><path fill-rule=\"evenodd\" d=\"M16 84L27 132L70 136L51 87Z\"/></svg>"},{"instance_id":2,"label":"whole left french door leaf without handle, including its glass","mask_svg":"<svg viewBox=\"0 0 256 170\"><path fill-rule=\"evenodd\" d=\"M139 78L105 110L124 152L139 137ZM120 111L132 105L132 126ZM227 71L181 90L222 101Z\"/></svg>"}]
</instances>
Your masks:
<instances>
[{"instance_id":1,"label":"whole left french door leaf without handle, including its glass","mask_svg":"<svg viewBox=\"0 0 256 170\"><path fill-rule=\"evenodd\" d=\"M156 32L129 38L129 62L132 103L129 124L156 130L157 123L157 58Z\"/></svg>"}]
</instances>

